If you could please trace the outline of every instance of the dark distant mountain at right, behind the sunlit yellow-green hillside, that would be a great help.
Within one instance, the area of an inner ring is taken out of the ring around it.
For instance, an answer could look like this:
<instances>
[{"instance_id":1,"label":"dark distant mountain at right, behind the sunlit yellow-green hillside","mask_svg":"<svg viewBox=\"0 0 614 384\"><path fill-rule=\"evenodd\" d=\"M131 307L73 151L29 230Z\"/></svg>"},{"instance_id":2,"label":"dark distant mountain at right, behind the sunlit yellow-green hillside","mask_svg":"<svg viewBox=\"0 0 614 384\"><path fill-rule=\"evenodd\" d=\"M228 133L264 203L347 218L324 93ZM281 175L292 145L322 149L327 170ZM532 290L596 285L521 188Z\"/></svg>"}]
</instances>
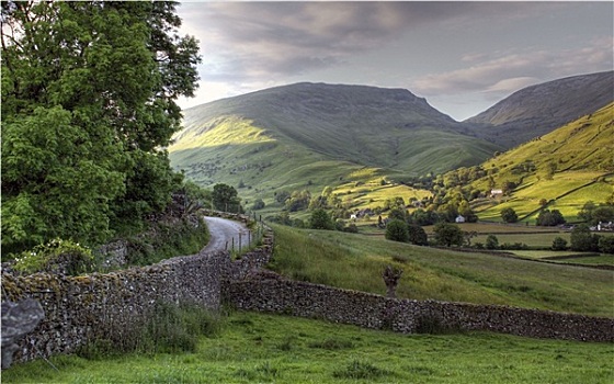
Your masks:
<instances>
[{"instance_id":1,"label":"dark distant mountain at right, behind the sunlit yellow-green hillside","mask_svg":"<svg viewBox=\"0 0 614 384\"><path fill-rule=\"evenodd\" d=\"M507 148L539 137L614 101L614 71L524 88L465 121L479 137Z\"/></svg>"}]
</instances>

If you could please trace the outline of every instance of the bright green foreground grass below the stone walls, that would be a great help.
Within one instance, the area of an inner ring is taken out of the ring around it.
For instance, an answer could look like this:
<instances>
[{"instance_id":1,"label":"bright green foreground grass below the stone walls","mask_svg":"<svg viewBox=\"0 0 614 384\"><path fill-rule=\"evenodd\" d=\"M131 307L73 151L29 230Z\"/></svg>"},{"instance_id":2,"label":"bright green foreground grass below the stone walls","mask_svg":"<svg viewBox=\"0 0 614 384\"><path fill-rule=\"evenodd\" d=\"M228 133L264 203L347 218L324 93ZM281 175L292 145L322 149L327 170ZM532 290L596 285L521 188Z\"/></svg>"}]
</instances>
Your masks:
<instances>
[{"instance_id":1,"label":"bright green foreground grass below the stone walls","mask_svg":"<svg viewBox=\"0 0 614 384\"><path fill-rule=\"evenodd\" d=\"M195 353L128 354L2 371L3 383L612 383L610 343L508 335L399 335L231 313Z\"/></svg>"}]
</instances>

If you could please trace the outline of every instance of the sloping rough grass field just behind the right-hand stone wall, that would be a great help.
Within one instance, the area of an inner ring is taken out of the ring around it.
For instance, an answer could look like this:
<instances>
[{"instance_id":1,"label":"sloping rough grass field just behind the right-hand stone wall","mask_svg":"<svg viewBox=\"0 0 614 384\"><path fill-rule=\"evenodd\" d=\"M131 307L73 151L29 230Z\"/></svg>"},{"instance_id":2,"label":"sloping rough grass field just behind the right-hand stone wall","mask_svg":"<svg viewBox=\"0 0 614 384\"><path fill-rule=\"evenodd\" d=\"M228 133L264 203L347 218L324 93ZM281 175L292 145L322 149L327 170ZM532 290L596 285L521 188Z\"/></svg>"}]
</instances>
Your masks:
<instances>
[{"instance_id":1,"label":"sloping rough grass field just behind the right-hand stone wall","mask_svg":"<svg viewBox=\"0 0 614 384\"><path fill-rule=\"evenodd\" d=\"M397 294L614 317L612 271L417 247L373 236L274 226L271 268L295 280L385 294L386 264L403 270Z\"/></svg>"}]
</instances>

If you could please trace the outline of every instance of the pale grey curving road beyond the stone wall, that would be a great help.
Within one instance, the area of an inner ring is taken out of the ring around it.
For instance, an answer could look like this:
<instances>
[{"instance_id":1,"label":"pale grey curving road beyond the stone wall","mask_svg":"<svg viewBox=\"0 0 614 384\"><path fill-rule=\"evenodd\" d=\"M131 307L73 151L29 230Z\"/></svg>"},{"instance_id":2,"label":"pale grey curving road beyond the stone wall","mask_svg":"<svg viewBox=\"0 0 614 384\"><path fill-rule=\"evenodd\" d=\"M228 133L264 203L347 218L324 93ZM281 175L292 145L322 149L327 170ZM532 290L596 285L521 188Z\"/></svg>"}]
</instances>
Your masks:
<instances>
[{"instance_id":1,"label":"pale grey curving road beyond the stone wall","mask_svg":"<svg viewBox=\"0 0 614 384\"><path fill-rule=\"evenodd\" d=\"M240 242L243 247L248 246L249 229L243 223L230 221L221 217L205 217L205 223L209 229L209 242L201 252L217 252L220 250L232 250L232 238L235 249L239 248ZM227 248L228 247L228 248Z\"/></svg>"}]
</instances>

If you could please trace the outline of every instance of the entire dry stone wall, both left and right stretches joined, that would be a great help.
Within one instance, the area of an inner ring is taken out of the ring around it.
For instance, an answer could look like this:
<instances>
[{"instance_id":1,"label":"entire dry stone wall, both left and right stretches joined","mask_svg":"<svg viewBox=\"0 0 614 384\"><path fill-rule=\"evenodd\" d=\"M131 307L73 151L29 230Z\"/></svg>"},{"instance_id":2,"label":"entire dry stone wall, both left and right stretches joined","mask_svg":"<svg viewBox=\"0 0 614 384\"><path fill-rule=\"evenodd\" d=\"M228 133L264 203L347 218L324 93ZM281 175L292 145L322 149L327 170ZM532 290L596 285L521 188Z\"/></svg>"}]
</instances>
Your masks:
<instances>
[{"instance_id":1,"label":"entire dry stone wall, both left and right stretches joined","mask_svg":"<svg viewBox=\"0 0 614 384\"><path fill-rule=\"evenodd\" d=\"M240 217L246 219L245 217ZM14 360L70 353L89 340L120 336L147 317L158 301L217 309L223 301L248 310L322 318L365 328L416 332L429 328L583 341L614 341L614 319L504 306L412 301L286 280L262 271L273 251L262 246L239 260L228 252L198 253L145 268L66 276L2 272L3 300L37 300L45 318L18 342Z\"/></svg>"}]
</instances>

